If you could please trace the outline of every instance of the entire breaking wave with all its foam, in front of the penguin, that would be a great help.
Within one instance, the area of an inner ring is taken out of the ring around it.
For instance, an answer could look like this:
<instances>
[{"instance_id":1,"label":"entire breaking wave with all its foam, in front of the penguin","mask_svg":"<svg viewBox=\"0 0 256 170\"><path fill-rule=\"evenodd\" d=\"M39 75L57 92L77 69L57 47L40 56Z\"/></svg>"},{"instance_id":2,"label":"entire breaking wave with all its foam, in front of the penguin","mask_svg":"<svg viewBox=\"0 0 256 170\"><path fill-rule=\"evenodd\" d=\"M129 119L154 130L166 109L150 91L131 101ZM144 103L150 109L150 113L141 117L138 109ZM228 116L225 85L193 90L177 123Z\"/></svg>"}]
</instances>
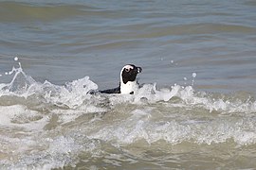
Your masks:
<instances>
[{"instance_id":1,"label":"entire breaking wave with all its foam, in front of the penguin","mask_svg":"<svg viewBox=\"0 0 256 170\"><path fill-rule=\"evenodd\" d=\"M21 63L5 76L12 80L0 84L4 167L75 166L82 154L101 157L105 147L140 143L256 144L256 102L248 93L158 89L153 83L135 95L90 94L98 85L89 76L41 83Z\"/></svg>"}]
</instances>

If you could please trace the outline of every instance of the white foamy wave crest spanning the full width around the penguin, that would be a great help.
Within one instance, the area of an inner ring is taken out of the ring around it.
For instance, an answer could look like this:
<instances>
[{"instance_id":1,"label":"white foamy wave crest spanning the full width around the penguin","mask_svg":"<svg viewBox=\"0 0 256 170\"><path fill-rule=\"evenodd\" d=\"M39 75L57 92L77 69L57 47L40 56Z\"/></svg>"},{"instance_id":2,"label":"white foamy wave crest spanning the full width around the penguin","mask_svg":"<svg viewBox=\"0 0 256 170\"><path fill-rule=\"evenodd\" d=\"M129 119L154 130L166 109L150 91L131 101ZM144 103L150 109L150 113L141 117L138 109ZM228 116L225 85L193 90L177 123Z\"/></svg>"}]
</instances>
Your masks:
<instances>
[{"instance_id":1,"label":"white foamy wave crest spanning the full width around the penguin","mask_svg":"<svg viewBox=\"0 0 256 170\"><path fill-rule=\"evenodd\" d=\"M27 98L31 95L43 97L43 101L59 107L68 107L70 109L80 108L87 103L94 103L100 98L107 98L111 105L121 103L155 103L158 101L168 102L174 97L182 100L183 104L190 106L200 105L207 110L213 111L255 111L255 102L230 102L222 98L212 98L207 93L194 92L192 86L174 85L172 88L156 88L154 84L144 84L135 95L110 94L110 95L95 95L92 97L88 94L91 90L97 90L98 85L85 76L81 79L67 82L64 86L54 85L48 81L44 83L36 82L31 76L27 76L21 65L19 68L13 67L9 75L13 75L12 80L5 84L0 84L1 95L16 95ZM195 73L192 74L196 76ZM97 102L96 102L97 103Z\"/></svg>"}]
</instances>

